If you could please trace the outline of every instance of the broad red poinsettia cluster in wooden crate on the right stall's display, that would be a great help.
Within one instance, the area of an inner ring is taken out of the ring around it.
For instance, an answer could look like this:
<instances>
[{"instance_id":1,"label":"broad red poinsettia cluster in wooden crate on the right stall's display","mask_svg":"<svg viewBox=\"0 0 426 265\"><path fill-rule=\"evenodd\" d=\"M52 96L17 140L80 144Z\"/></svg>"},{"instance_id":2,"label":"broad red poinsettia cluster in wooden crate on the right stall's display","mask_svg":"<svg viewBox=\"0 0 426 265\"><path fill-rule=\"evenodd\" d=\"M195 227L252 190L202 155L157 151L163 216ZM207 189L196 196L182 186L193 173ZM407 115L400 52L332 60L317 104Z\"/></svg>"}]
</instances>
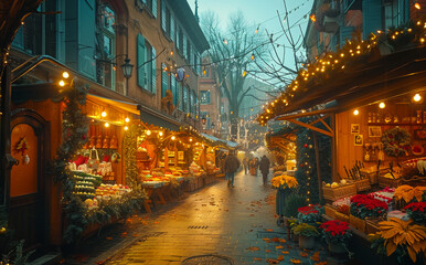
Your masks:
<instances>
[{"instance_id":1,"label":"broad red poinsettia cluster in wooden crate on the right stall's display","mask_svg":"<svg viewBox=\"0 0 426 265\"><path fill-rule=\"evenodd\" d=\"M372 195L358 194L351 199L351 214L359 219L379 218L387 212L387 204Z\"/></svg>"}]
</instances>

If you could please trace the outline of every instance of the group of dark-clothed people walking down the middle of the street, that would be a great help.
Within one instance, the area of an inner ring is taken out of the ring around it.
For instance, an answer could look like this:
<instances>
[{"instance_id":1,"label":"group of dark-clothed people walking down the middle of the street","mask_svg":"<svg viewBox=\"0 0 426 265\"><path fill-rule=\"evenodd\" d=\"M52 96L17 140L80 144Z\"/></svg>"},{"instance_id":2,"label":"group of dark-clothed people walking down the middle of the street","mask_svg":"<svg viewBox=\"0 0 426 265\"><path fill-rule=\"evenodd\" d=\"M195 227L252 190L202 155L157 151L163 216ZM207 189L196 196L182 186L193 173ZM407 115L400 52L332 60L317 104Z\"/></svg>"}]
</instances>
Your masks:
<instances>
[{"instance_id":1,"label":"group of dark-clothed people walking down the middle of the street","mask_svg":"<svg viewBox=\"0 0 426 265\"><path fill-rule=\"evenodd\" d=\"M239 166L241 162L238 158L233 151L231 151L224 160L223 167L228 187L234 187L235 172L238 170ZM245 157L243 159L243 167L245 174L247 174L247 171L249 171L252 176L257 176L257 169L259 169L264 183L267 182L270 161L265 155L260 158L260 160L258 158L248 159L247 157Z\"/></svg>"}]
</instances>

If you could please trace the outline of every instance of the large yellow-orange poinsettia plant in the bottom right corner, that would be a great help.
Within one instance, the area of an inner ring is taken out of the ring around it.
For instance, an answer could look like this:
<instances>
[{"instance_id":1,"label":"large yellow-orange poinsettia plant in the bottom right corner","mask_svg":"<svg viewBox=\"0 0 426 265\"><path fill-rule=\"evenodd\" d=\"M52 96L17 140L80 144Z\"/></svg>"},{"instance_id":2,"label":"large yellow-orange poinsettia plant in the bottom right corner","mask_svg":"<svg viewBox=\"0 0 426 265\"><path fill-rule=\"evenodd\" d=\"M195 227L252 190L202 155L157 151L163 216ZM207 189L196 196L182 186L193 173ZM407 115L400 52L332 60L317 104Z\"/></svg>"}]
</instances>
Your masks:
<instances>
[{"instance_id":1,"label":"large yellow-orange poinsettia plant in the bottom right corner","mask_svg":"<svg viewBox=\"0 0 426 265\"><path fill-rule=\"evenodd\" d=\"M380 232L370 235L371 247L377 254L393 256L398 264L425 264L426 227L414 224L413 220L403 221L391 218L379 223Z\"/></svg>"}]
</instances>

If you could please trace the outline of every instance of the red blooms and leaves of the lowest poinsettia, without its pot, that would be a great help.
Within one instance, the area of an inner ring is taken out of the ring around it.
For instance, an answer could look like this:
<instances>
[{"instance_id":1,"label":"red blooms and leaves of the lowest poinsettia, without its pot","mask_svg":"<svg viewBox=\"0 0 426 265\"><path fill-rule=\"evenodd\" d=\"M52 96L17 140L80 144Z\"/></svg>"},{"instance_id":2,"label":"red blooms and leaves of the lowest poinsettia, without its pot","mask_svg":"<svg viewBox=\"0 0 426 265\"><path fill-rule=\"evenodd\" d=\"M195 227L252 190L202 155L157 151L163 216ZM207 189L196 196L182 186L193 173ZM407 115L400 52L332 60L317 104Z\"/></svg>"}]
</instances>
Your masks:
<instances>
[{"instance_id":1,"label":"red blooms and leaves of the lowest poinsettia, without its pot","mask_svg":"<svg viewBox=\"0 0 426 265\"><path fill-rule=\"evenodd\" d=\"M340 220L327 221L320 225L320 229L322 230L322 237L326 242L334 245L345 245L347 241L352 236L349 230L349 223Z\"/></svg>"}]
</instances>

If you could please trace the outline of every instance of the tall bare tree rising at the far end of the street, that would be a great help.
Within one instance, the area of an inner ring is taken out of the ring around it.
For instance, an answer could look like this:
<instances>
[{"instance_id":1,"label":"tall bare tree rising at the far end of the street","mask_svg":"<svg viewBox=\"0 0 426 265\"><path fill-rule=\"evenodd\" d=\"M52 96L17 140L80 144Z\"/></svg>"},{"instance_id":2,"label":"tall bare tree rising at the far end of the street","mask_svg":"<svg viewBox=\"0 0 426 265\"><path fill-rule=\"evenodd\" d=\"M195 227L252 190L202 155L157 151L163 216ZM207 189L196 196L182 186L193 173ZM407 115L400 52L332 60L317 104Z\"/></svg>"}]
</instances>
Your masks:
<instances>
[{"instance_id":1,"label":"tall bare tree rising at the far end of the street","mask_svg":"<svg viewBox=\"0 0 426 265\"><path fill-rule=\"evenodd\" d=\"M255 68L255 61L266 54L268 43L260 34L249 31L242 12L233 13L222 32L213 12L203 13L202 29L210 42L209 55L215 73L217 89L230 104L231 135L237 132L238 109L253 86L244 87L247 73ZM265 60L265 59L263 59Z\"/></svg>"}]
</instances>

